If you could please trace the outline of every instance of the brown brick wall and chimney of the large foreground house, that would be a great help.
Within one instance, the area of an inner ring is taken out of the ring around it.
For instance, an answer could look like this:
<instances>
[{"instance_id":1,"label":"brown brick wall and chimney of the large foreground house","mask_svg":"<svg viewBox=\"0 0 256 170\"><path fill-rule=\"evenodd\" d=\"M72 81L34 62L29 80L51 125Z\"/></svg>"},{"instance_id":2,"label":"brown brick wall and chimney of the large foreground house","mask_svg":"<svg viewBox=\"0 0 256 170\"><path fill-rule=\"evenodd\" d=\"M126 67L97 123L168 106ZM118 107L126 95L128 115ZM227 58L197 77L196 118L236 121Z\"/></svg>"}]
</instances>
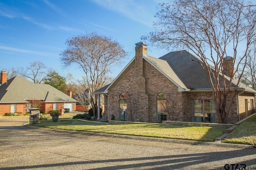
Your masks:
<instances>
[{"instance_id":1,"label":"brown brick wall and chimney of the large foreground house","mask_svg":"<svg viewBox=\"0 0 256 170\"><path fill-rule=\"evenodd\" d=\"M193 117L193 100L214 100L212 92L178 92L178 87L154 68L150 63L142 59L142 53L146 55L146 48L143 46L136 47L136 56L133 63L129 65L127 70L122 73L115 84L109 89L108 96L104 95L105 114L111 119L111 114L115 115L115 120L119 117L119 96L126 94L127 98L133 96L136 103L136 111L134 120L132 120L131 112L128 109L127 121L145 121L157 122L157 95L163 92L167 96L175 99L175 109L173 118L167 113L167 120L174 121L192 121ZM232 92L228 95L227 102L231 102ZM243 117L241 111L245 110L244 100L253 99L253 94L240 95L240 119ZM132 104L127 100L127 108ZM250 103L248 104L250 110ZM249 114L249 113L248 113ZM238 121L237 98L230 107L228 123L236 123ZM216 115L216 123L219 123Z\"/></svg>"}]
</instances>

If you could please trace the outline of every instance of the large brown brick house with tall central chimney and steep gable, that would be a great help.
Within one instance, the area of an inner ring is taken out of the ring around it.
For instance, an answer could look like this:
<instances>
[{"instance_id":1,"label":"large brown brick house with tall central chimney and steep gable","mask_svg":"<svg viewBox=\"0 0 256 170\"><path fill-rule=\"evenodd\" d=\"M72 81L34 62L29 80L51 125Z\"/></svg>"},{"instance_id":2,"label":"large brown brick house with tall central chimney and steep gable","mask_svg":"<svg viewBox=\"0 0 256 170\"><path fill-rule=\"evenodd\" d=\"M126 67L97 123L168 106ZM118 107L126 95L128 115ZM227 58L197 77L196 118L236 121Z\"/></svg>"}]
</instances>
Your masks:
<instances>
[{"instance_id":1,"label":"large brown brick house with tall central chimney and steep gable","mask_svg":"<svg viewBox=\"0 0 256 170\"><path fill-rule=\"evenodd\" d=\"M104 94L108 119L113 114L116 120L125 121L218 123L209 78L200 64L191 60L198 58L187 51L176 51L157 59L147 55L146 44L142 42L136 44L135 51L135 57L111 84L93 92ZM232 58L227 57L226 62L230 61ZM225 70L234 71L231 67ZM255 94L255 90L240 83L227 123L252 114ZM170 116L164 107L167 98L174 103Z\"/></svg>"}]
</instances>

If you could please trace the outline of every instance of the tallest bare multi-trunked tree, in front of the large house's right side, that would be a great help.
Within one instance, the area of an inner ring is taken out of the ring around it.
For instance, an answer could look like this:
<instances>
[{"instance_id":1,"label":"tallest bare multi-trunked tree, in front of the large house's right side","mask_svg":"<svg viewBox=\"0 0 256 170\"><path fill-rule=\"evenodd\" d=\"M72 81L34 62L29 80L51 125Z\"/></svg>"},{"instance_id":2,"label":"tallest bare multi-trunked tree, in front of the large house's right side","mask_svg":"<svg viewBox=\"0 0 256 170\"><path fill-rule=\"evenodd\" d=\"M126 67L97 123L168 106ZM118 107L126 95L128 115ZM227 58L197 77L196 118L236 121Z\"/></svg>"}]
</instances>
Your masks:
<instances>
[{"instance_id":1,"label":"tallest bare multi-trunked tree, in front of the large house's right side","mask_svg":"<svg viewBox=\"0 0 256 170\"><path fill-rule=\"evenodd\" d=\"M231 66L246 62L248 48L255 38L255 6L244 0L175 0L161 4L156 14L155 31L142 37L162 48L186 48L198 58L213 89L216 112L220 123L226 123L234 101L227 103L232 79L225 76L223 59L233 57ZM228 54L227 53L232 53ZM212 67L213 65L213 67ZM244 65L241 67L244 70Z\"/></svg>"}]
</instances>

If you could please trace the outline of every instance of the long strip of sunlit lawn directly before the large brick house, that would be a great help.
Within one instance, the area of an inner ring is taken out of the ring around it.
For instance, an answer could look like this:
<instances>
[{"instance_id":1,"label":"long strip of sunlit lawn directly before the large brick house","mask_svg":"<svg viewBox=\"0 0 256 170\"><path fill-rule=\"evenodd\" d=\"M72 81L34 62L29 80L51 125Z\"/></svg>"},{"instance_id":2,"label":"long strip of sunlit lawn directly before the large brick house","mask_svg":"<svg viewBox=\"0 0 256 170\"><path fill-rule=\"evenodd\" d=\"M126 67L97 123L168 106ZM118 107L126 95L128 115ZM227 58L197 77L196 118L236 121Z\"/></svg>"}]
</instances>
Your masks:
<instances>
[{"instance_id":1,"label":"long strip of sunlit lawn directly before the large brick house","mask_svg":"<svg viewBox=\"0 0 256 170\"><path fill-rule=\"evenodd\" d=\"M213 142L216 137L222 135L224 127L195 127L195 126L169 126L152 124L103 124L88 121L59 121L44 120L38 124L40 127L52 129L65 129L73 131L87 131L97 133L112 133L120 135L134 135L144 137L160 137L170 139L186 139L194 141Z\"/></svg>"}]
</instances>

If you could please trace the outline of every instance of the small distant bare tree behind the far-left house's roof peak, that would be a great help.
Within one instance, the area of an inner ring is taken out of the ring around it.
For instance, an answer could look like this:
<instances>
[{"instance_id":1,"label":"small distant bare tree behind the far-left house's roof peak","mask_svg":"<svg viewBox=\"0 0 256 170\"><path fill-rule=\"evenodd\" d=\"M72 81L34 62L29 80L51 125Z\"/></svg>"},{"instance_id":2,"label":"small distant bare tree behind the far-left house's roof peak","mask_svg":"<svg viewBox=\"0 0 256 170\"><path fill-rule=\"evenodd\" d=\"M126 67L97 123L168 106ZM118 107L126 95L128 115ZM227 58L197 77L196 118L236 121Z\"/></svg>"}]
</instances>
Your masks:
<instances>
[{"instance_id":1,"label":"small distant bare tree behind the far-left house's roof peak","mask_svg":"<svg viewBox=\"0 0 256 170\"><path fill-rule=\"evenodd\" d=\"M41 61L34 61L26 68L20 67L16 70L20 76L31 79L34 83L42 83L50 70Z\"/></svg>"}]
</instances>

